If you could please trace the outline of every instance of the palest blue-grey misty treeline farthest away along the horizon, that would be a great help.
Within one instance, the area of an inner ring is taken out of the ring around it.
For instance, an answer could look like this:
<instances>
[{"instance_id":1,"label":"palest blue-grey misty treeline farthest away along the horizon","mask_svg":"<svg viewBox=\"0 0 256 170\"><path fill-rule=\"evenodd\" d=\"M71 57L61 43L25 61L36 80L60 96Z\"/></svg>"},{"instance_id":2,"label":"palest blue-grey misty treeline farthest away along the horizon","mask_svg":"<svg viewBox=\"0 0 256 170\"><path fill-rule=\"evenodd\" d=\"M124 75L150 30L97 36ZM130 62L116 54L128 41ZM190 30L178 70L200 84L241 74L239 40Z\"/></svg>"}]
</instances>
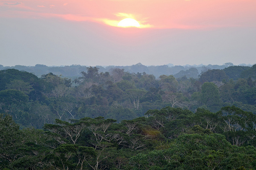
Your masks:
<instances>
[{"instance_id":1,"label":"palest blue-grey misty treeline farthest away along the horizon","mask_svg":"<svg viewBox=\"0 0 256 170\"><path fill-rule=\"evenodd\" d=\"M252 66L252 64L238 64L238 66ZM182 76L187 76L187 78L198 78L198 75L201 74L201 72L205 72L209 69L224 69L228 66L234 66L232 63L225 63L222 65L204 65L204 64L198 64L198 65L174 65L174 64L166 64L166 65L160 65L160 66L145 66L141 63L134 64L131 66L96 66L99 68L99 72L109 72L112 68L120 68L124 69L126 72L130 73L143 73L146 72L147 74L152 74L156 77L159 77L160 75L174 75L175 78L180 78ZM31 72L35 74L36 76L40 77L42 74L48 74L49 72L52 72L56 75L62 75L63 77L68 78L76 78L78 76L81 76L81 72L85 71L88 66L82 66L79 64L70 65L70 66L46 66L44 64L36 64L35 66L22 66L22 65L15 65L15 66L3 66L0 64L0 70L5 70L9 68L14 68L17 70L22 70L26 72ZM191 68L196 68L192 69ZM193 72L192 75L188 76L190 72Z\"/></svg>"}]
</instances>

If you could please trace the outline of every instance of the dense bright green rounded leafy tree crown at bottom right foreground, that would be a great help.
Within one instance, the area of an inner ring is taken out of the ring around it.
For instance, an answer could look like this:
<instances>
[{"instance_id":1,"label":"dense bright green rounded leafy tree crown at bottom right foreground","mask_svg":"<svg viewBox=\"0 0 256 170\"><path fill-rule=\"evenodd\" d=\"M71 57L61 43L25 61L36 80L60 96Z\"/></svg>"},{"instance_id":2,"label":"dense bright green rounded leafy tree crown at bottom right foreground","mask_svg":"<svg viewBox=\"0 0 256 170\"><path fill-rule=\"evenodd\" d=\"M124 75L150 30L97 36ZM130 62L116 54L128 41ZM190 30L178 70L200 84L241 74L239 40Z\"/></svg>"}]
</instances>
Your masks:
<instances>
[{"instance_id":1,"label":"dense bright green rounded leafy tree crown at bottom right foreground","mask_svg":"<svg viewBox=\"0 0 256 170\"><path fill-rule=\"evenodd\" d=\"M235 154L234 150L236 150ZM253 149L255 152L255 149ZM170 144L169 149L153 150L147 154L137 154L130 159L130 164L134 169L149 169L150 166L158 169L229 169L240 168L244 165L252 168L253 155L244 157L242 148L240 151L235 146L230 145L223 135L181 135ZM240 156L245 158L238 162ZM231 161L231 162L227 162Z\"/></svg>"}]
</instances>

